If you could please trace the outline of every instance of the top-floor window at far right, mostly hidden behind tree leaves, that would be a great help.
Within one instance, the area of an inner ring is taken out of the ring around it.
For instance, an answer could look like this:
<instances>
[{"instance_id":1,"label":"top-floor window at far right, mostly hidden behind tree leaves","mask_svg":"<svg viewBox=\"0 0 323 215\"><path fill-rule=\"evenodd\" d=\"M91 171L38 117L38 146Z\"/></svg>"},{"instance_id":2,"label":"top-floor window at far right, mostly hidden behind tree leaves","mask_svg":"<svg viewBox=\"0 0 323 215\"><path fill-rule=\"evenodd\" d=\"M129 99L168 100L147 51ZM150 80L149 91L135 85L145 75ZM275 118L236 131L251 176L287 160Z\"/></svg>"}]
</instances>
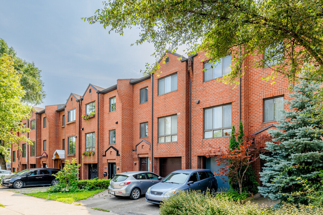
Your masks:
<instances>
[{"instance_id":1,"label":"top-floor window at far right, mostly hidden behind tree leaves","mask_svg":"<svg viewBox=\"0 0 323 215\"><path fill-rule=\"evenodd\" d=\"M280 64L284 61L284 43L272 43L264 50L263 68Z\"/></svg>"}]
</instances>

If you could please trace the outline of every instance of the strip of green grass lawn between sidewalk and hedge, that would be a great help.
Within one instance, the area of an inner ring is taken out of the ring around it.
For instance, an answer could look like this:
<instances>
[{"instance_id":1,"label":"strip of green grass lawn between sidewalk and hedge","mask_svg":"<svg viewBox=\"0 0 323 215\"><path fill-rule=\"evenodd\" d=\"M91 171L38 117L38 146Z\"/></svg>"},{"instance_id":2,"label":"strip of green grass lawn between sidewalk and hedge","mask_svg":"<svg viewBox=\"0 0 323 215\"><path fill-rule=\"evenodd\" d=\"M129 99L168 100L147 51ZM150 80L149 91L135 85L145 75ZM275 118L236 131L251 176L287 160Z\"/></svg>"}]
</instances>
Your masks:
<instances>
[{"instance_id":1,"label":"strip of green grass lawn between sidewalk and hedge","mask_svg":"<svg viewBox=\"0 0 323 215\"><path fill-rule=\"evenodd\" d=\"M74 201L87 199L94 194L101 192L102 190L96 191L82 191L82 192L58 192L58 193L49 193L49 192L35 192L35 193L22 193L28 196L35 196L47 200L61 201L67 204L71 204Z\"/></svg>"}]
</instances>

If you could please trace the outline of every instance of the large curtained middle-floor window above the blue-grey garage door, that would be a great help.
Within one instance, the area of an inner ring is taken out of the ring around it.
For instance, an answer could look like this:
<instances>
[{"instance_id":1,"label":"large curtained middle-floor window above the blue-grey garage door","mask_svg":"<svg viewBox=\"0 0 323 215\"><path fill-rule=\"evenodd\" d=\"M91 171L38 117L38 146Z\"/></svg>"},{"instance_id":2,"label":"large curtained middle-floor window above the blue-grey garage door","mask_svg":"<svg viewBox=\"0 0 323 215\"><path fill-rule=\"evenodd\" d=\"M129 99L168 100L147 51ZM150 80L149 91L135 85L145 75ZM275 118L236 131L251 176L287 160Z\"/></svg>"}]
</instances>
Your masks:
<instances>
[{"instance_id":1,"label":"large curtained middle-floor window above the blue-grey garage door","mask_svg":"<svg viewBox=\"0 0 323 215\"><path fill-rule=\"evenodd\" d=\"M222 105L204 109L204 138L225 136L231 133L232 105Z\"/></svg>"}]
</instances>

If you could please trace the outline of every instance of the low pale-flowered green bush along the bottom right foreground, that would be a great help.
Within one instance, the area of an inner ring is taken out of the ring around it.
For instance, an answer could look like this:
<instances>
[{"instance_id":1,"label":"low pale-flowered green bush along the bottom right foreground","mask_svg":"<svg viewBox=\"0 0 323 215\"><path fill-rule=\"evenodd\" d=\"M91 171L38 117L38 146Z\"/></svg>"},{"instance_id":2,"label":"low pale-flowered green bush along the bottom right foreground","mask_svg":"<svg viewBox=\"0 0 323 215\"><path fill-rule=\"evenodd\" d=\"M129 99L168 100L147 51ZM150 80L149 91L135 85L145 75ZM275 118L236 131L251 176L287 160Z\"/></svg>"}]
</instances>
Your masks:
<instances>
[{"instance_id":1,"label":"low pale-flowered green bush along the bottom right foreground","mask_svg":"<svg viewBox=\"0 0 323 215\"><path fill-rule=\"evenodd\" d=\"M161 215L321 215L320 207L284 205L272 210L248 201L240 204L225 195L212 197L196 191L180 191L161 204Z\"/></svg>"}]
</instances>

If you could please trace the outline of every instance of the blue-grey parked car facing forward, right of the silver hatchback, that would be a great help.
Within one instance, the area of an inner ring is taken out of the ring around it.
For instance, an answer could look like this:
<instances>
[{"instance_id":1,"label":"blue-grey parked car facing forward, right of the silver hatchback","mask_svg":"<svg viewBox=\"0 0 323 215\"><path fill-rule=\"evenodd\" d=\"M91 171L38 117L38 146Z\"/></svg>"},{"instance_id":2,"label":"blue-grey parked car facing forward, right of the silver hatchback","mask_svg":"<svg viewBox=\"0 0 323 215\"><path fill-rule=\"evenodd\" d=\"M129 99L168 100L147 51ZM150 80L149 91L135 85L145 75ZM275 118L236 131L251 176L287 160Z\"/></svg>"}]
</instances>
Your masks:
<instances>
[{"instance_id":1,"label":"blue-grey parked car facing forward, right of the silver hatchback","mask_svg":"<svg viewBox=\"0 0 323 215\"><path fill-rule=\"evenodd\" d=\"M171 194L180 190L209 191L214 195L217 189L218 183L210 170L176 170L166 176L160 183L151 186L147 190L146 201L161 204Z\"/></svg>"}]
</instances>

